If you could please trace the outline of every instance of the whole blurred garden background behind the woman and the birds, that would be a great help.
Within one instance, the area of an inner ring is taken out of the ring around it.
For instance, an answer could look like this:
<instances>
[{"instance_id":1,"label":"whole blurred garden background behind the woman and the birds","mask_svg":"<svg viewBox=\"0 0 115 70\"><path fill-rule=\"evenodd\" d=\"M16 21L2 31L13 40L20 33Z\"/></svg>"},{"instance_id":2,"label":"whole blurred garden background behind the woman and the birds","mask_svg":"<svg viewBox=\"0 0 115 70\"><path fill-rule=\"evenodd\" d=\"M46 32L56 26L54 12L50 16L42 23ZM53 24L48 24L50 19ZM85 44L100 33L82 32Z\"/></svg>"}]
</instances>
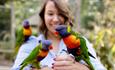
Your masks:
<instances>
[{"instance_id":1,"label":"whole blurred garden background behind the woman and the birds","mask_svg":"<svg viewBox=\"0 0 115 70\"><path fill-rule=\"evenodd\" d=\"M38 34L43 0L0 0L0 70L10 70L15 59L16 31L28 19ZM115 70L115 0L65 0L74 18L74 30L93 44L107 70Z\"/></svg>"}]
</instances>

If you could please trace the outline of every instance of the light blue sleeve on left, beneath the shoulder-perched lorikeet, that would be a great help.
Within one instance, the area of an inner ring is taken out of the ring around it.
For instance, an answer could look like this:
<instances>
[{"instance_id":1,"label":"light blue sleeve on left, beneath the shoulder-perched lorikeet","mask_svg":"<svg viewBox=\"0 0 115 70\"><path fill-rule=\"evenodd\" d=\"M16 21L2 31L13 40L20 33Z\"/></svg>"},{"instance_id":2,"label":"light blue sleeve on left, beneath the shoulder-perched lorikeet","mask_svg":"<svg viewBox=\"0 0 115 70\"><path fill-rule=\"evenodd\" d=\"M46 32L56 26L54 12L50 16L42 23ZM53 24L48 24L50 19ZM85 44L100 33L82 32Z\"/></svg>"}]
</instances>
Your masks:
<instances>
[{"instance_id":1,"label":"light blue sleeve on left, beneath the shoulder-perched lorikeet","mask_svg":"<svg viewBox=\"0 0 115 70\"><path fill-rule=\"evenodd\" d=\"M23 60L31 53L31 51L36 47L37 40L33 37L29 39L26 43L24 43L17 54L17 57L14 61L14 65L11 70L20 70L20 65ZM30 70L29 66L25 67L24 70Z\"/></svg>"}]
</instances>

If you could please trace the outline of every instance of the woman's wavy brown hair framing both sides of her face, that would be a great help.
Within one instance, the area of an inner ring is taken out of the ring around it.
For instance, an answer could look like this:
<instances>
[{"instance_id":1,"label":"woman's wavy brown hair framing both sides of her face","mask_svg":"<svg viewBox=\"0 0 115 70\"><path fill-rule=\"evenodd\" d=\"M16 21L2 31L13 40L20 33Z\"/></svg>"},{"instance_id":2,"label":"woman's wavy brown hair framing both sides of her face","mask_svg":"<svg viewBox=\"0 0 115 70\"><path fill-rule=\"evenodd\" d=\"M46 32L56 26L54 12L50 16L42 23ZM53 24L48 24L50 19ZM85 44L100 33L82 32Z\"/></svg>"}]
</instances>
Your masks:
<instances>
[{"instance_id":1,"label":"woman's wavy brown hair framing both sides of her face","mask_svg":"<svg viewBox=\"0 0 115 70\"><path fill-rule=\"evenodd\" d=\"M48 1L53 1L55 4L55 7L58 9L59 13L64 17L65 24L68 23L68 21L72 20L70 9L64 0L45 0L43 3L43 6L40 10L39 16L41 19L41 23L39 26L39 32L43 33L45 36L47 35L47 27L45 25L45 19L44 19L44 13L45 13L45 7L48 3Z\"/></svg>"}]
</instances>

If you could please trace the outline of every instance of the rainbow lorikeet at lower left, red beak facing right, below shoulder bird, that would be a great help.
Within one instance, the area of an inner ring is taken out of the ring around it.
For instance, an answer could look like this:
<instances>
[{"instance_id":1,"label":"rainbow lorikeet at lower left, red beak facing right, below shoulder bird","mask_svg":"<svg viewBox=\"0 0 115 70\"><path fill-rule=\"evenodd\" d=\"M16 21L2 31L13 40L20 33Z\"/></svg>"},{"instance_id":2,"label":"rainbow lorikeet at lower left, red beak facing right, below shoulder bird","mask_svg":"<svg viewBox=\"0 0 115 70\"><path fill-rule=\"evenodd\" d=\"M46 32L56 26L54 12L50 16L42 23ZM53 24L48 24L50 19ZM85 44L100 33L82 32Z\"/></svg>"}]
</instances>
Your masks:
<instances>
[{"instance_id":1,"label":"rainbow lorikeet at lower left, red beak facing right, below shoulder bird","mask_svg":"<svg viewBox=\"0 0 115 70\"><path fill-rule=\"evenodd\" d=\"M50 40L40 40L39 45L36 46L30 55L22 62L20 70L23 70L28 64L32 64L35 68L40 68L39 63L47 56L49 50L52 49L51 44Z\"/></svg>"}]
</instances>

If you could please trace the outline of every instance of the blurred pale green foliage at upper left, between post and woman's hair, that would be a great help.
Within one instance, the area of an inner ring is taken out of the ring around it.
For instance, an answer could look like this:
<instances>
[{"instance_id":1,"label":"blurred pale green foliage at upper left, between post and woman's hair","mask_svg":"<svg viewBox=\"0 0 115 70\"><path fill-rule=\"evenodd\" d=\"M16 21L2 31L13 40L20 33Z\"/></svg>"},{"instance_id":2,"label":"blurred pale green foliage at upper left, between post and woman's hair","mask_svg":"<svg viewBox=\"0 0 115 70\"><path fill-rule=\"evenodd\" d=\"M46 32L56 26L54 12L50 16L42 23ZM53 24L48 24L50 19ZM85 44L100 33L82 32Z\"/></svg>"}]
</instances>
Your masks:
<instances>
[{"instance_id":1,"label":"blurred pale green foliage at upper left, between post and woman's hair","mask_svg":"<svg viewBox=\"0 0 115 70\"><path fill-rule=\"evenodd\" d=\"M16 0L14 1L16 25L20 25L23 20L30 18L38 12L41 0Z\"/></svg>"}]
</instances>

